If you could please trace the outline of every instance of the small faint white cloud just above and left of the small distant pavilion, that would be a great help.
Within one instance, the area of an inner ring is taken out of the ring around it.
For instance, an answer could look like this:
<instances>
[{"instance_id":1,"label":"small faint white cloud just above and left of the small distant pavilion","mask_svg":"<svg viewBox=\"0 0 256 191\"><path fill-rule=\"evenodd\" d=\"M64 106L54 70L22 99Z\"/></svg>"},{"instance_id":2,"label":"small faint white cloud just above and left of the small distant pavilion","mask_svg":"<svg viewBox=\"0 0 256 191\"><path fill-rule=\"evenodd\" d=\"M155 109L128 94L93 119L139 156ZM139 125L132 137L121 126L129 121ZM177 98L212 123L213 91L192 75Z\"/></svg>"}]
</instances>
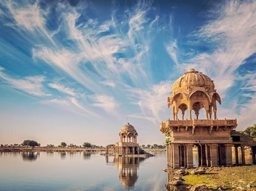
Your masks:
<instances>
[{"instance_id":1,"label":"small faint white cloud just above and left of the small distant pavilion","mask_svg":"<svg viewBox=\"0 0 256 191\"><path fill-rule=\"evenodd\" d=\"M95 107L101 108L106 112L114 112L114 109L118 106L118 103L114 100L114 97L107 95L93 95L93 103Z\"/></svg>"}]
</instances>

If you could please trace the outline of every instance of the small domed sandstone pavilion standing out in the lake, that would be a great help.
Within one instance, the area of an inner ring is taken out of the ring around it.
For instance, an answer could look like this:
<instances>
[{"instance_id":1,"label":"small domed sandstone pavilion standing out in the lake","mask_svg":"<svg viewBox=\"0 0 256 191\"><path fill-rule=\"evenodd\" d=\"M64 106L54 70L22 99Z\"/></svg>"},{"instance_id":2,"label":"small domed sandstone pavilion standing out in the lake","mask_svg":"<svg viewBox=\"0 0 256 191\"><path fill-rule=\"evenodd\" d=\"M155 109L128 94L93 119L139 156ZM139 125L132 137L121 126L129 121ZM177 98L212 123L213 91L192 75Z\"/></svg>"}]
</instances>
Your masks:
<instances>
[{"instance_id":1,"label":"small domed sandstone pavilion standing out in the lake","mask_svg":"<svg viewBox=\"0 0 256 191\"><path fill-rule=\"evenodd\" d=\"M139 144L137 144L138 133L134 127L127 123L119 132L119 142L114 144L114 153L119 155L124 154L139 154Z\"/></svg>"}]
</instances>

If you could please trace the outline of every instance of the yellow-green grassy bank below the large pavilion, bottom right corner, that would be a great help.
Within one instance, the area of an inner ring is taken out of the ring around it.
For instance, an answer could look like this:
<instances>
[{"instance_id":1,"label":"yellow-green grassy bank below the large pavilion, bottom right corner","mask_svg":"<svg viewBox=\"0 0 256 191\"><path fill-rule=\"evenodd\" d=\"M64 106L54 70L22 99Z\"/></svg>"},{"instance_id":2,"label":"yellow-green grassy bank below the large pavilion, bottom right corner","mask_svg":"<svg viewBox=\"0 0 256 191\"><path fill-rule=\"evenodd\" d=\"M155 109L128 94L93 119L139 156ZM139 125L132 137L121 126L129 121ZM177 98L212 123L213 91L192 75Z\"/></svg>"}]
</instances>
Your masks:
<instances>
[{"instance_id":1,"label":"yellow-green grassy bank below the large pavilion, bottom right corner","mask_svg":"<svg viewBox=\"0 0 256 191\"><path fill-rule=\"evenodd\" d=\"M191 170L187 170L190 172ZM208 188L232 190L256 190L256 165L238 167L208 168L203 175L185 175L184 183L188 185L206 185ZM251 188L249 188L249 185Z\"/></svg>"}]
</instances>

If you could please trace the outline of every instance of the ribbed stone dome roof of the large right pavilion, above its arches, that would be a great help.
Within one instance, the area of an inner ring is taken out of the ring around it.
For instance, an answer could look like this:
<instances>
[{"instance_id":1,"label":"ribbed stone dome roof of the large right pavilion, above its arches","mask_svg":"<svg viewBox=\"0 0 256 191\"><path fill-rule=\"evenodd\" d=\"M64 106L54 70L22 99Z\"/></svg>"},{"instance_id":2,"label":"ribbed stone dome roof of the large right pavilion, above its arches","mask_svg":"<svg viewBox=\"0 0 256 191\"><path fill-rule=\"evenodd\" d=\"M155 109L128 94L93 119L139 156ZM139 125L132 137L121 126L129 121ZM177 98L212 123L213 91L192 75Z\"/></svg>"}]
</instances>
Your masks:
<instances>
[{"instance_id":1,"label":"ribbed stone dome roof of the large right pavilion, above its arches","mask_svg":"<svg viewBox=\"0 0 256 191\"><path fill-rule=\"evenodd\" d=\"M214 91L215 86L210 77L191 68L174 82L172 91L184 90L188 87L207 87L208 90Z\"/></svg>"}]
</instances>

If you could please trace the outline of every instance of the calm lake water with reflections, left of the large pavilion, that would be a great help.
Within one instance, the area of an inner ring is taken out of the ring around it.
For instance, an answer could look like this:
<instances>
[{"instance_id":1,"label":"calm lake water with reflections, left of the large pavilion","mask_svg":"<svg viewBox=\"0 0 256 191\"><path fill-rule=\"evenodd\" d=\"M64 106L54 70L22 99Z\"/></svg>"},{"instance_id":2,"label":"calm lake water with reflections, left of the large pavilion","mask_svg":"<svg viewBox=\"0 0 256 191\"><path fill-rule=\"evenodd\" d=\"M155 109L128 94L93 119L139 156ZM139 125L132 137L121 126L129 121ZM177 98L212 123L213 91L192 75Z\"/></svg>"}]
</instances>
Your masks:
<instances>
[{"instance_id":1,"label":"calm lake water with reflections, left of the large pavilion","mask_svg":"<svg viewBox=\"0 0 256 191\"><path fill-rule=\"evenodd\" d=\"M0 190L166 190L166 154L109 157L99 152L0 153Z\"/></svg>"}]
</instances>

